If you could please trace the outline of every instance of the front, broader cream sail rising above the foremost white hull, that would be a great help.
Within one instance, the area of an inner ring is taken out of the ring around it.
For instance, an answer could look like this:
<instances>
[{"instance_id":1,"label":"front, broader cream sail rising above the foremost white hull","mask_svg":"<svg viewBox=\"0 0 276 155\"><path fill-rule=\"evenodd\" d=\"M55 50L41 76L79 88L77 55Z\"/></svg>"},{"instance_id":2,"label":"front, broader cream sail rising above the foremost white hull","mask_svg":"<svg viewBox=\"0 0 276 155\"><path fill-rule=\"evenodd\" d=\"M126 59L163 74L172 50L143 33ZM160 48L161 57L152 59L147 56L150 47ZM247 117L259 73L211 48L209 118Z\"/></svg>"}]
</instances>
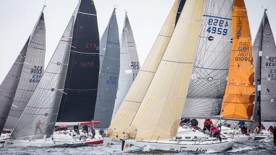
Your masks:
<instances>
[{"instance_id":1,"label":"front, broader cream sail rising above the foremost white hull","mask_svg":"<svg viewBox=\"0 0 276 155\"><path fill-rule=\"evenodd\" d=\"M125 138L162 140L176 135L194 64L203 8L204 0L186 1Z\"/></svg>"}]
</instances>

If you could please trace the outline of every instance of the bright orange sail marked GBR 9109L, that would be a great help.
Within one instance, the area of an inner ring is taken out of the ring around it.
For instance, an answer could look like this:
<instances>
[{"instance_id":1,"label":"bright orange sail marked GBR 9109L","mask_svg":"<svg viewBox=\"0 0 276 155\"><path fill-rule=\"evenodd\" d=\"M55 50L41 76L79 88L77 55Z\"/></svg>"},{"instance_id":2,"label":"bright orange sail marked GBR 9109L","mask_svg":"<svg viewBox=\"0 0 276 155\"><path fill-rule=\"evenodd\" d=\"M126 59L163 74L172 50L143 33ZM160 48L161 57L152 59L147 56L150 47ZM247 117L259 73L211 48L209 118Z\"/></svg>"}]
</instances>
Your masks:
<instances>
[{"instance_id":1,"label":"bright orange sail marked GBR 9109L","mask_svg":"<svg viewBox=\"0 0 276 155\"><path fill-rule=\"evenodd\" d=\"M254 65L251 33L243 0L235 0L232 16L233 45L221 115L229 119L251 120L255 100Z\"/></svg>"}]
</instances>

